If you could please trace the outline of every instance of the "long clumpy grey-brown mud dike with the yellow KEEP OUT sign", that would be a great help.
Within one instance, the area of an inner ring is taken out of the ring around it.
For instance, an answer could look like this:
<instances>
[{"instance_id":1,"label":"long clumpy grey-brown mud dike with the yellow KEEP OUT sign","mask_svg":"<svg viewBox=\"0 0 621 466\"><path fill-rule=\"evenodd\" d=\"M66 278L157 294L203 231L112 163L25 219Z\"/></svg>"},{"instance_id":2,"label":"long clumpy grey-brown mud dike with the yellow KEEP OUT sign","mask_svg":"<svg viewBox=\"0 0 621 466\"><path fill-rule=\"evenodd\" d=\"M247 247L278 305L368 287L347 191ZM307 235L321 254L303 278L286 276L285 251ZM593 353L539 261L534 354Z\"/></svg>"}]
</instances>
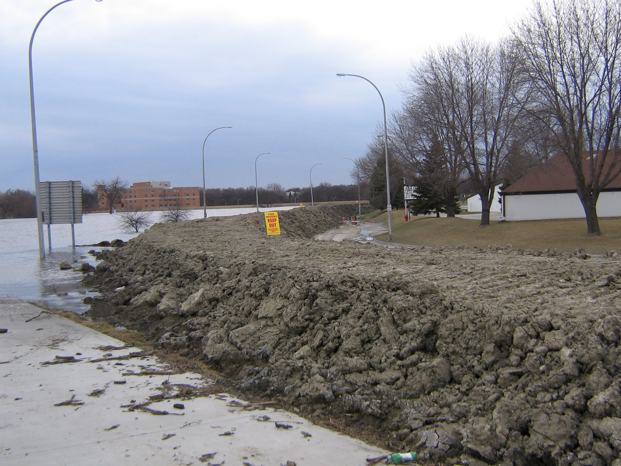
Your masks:
<instances>
[{"instance_id":1,"label":"long clumpy grey-brown mud dike with the yellow KEEP OUT sign","mask_svg":"<svg viewBox=\"0 0 621 466\"><path fill-rule=\"evenodd\" d=\"M89 314L392 450L621 465L617 257L309 239L345 209L153 226L102 254Z\"/></svg>"}]
</instances>

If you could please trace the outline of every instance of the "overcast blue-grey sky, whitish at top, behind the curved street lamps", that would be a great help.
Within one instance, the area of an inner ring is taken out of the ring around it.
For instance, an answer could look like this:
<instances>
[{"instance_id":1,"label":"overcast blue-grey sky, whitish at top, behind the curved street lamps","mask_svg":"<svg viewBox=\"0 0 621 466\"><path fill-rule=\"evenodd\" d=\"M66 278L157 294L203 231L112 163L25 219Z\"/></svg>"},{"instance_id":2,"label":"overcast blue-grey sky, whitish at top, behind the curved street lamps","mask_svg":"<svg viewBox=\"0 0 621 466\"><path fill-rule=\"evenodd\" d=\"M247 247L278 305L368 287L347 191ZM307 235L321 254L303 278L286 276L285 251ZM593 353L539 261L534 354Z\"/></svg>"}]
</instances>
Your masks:
<instances>
[{"instance_id":1,"label":"overcast blue-grey sky, whitish at top, behind the curved street lamps","mask_svg":"<svg viewBox=\"0 0 621 466\"><path fill-rule=\"evenodd\" d=\"M55 1L0 2L0 190L34 188L32 28ZM464 34L494 40L530 0L74 0L34 43L41 180L198 186L350 183L412 61Z\"/></svg>"}]
</instances>

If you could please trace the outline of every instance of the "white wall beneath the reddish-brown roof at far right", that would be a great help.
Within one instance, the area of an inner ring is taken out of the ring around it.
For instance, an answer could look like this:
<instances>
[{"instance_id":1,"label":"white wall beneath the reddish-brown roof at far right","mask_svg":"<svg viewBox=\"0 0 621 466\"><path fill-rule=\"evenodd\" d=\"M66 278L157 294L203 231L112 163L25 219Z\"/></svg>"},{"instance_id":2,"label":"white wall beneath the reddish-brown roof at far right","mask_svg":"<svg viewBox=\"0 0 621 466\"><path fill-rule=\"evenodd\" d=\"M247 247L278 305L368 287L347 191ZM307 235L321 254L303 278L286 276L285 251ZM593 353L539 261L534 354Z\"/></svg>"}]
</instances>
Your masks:
<instances>
[{"instance_id":1,"label":"white wall beneath the reddish-brown roof at far right","mask_svg":"<svg viewBox=\"0 0 621 466\"><path fill-rule=\"evenodd\" d=\"M585 217L576 193L504 196L504 203L504 219L507 221ZM597 216L621 217L621 191L599 194Z\"/></svg>"}]
</instances>

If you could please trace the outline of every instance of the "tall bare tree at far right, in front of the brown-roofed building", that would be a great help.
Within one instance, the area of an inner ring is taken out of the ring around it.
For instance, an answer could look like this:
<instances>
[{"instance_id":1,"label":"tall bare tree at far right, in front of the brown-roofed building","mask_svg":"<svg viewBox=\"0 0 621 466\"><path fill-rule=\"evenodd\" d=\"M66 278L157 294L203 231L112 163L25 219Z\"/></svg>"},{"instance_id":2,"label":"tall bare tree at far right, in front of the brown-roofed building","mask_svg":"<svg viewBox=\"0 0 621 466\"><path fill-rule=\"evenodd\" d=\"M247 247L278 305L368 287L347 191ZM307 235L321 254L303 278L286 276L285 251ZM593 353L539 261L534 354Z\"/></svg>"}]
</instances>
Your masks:
<instances>
[{"instance_id":1,"label":"tall bare tree at far right, in front of the brown-roofed building","mask_svg":"<svg viewBox=\"0 0 621 466\"><path fill-rule=\"evenodd\" d=\"M599 234L597 199L621 171L621 3L537 1L514 37L538 115L576 178L587 232Z\"/></svg>"}]
</instances>

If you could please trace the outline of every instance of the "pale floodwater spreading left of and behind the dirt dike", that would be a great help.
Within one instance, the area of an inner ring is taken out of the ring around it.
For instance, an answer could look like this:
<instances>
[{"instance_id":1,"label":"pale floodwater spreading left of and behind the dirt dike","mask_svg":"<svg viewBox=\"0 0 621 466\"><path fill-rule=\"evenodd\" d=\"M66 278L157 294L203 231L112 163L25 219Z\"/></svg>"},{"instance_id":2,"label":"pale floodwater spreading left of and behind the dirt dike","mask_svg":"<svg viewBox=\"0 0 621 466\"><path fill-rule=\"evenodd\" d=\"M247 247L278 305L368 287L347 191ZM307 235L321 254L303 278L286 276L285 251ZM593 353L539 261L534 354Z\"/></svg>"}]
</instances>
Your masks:
<instances>
[{"instance_id":1,"label":"pale floodwater spreading left of and behind the dirt dike","mask_svg":"<svg viewBox=\"0 0 621 466\"><path fill-rule=\"evenodd\" d=\"M288 210L291 207L261 209L261 211ZM255 212L255 208L211 209L209 217L223 217ZM190 211L192 218L202 218L202 210ZM52 225L52 252L47 247L45 233L45 259L39 259L36 219L0 219L0 295L15 296L47 308L68 309L83 313L89 306L83 303L86 296L94 296L81 284L83 273L60 270L61 262L76 265L97 261L88 254L91 249L101 250L93 244L107 240L127 241L138 234L120 229L120 214L87 214L83 223L76 224L76 248L71 247L71 226ZM156 221L160 212L152 212Z\"/></svg>"}]
</instances>

